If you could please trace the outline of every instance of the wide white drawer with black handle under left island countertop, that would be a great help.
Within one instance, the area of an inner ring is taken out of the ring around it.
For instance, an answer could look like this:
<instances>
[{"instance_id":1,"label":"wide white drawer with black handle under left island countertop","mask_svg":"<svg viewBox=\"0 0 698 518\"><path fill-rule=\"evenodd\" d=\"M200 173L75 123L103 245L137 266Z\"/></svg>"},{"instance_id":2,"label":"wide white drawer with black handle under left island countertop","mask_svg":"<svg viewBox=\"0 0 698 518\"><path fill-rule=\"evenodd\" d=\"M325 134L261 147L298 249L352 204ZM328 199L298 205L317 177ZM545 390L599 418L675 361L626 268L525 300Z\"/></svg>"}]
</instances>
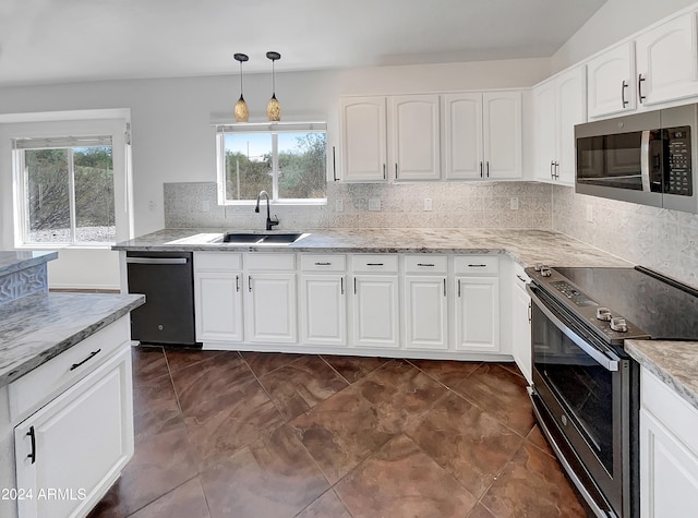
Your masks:
<instances>
[{"instance_id":1,"label":"wide white drawer with black handle under left island countertop","mask_svg":"<svg viewBox=\"0 0 698 518\"><path fill-rule=\"evenodd\" d=\"M129 316L122 316L11 383L8 387L11 420L21 421L40 403L84 377L120 346L130 342L130 336Z\"/></svg>"}]
</instances>

